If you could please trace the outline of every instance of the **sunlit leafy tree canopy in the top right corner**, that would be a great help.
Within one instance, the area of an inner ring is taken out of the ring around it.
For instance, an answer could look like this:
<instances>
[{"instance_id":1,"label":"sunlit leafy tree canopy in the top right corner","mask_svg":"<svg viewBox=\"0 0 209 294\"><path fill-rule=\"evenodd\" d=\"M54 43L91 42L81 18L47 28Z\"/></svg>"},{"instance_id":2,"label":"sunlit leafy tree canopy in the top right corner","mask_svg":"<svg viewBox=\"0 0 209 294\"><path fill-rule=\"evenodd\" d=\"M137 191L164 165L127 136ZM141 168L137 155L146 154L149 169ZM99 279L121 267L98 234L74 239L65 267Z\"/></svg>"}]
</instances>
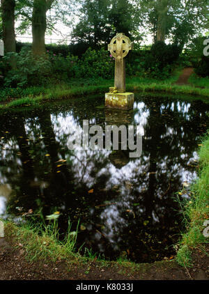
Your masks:
<instances>
[{"instance_id":1,"label":"sunlit leafy tree canopy in the top right corner","mask_svg":"<svg viewBox=\"0 0 209 294\"><path fill-rule=\"evenodd\" d=\"M208 26L208 0L137 0L141 26L157 40L157 29L182 49ZM207 25L206 25L207 24Z\"/></svg>"}]
</instances>

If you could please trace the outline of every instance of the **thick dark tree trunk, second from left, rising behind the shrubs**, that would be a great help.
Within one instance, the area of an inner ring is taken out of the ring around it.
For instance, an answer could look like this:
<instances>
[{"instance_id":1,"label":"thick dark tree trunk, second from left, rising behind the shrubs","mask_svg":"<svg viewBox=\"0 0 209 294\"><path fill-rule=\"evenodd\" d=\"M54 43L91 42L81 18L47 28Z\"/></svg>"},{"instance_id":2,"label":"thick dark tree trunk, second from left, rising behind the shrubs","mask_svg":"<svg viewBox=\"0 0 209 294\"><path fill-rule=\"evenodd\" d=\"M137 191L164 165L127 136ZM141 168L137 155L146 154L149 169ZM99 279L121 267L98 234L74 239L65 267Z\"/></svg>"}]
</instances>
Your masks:
<instances>
[{"instance_id":1,"label":"thick dark tree trunk, second from left, rising behind the shrubs","mask_svg":"<svg viewBox=\"0 0 209 294\"><path fill-rule=\"evenodd\" d=\"M32 16L32 51L34 55L45 54L45 31L47 29L47 2L34 0Z\"/></svg>"}]
</instances>

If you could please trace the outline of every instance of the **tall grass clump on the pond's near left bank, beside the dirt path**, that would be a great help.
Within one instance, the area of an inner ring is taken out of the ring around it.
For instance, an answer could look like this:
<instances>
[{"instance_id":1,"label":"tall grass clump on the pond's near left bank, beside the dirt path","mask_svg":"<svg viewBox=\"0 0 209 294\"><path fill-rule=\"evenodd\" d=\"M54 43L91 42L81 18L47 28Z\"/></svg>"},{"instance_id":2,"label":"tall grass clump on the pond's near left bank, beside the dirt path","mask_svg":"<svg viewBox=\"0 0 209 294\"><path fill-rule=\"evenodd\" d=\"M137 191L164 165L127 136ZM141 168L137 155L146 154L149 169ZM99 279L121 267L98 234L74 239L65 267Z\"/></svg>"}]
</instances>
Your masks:
<instances>
[{"instance_id":1,"label":"tall grass clump on the pond's near left bank, beside the dirt path","mask_svg":"<svg viewBox=\"0 0 209 294\"><path fill-rule=\"evenodd\" d=\"M77 230L71 231L71 224L68 222L68 231L63 240L60 240L58 223L55 220L51 224L31 224L26 222L16 226L12 222L6 222L6 233L15 238L15 244L22 246L29 261L42 260L51 261L65 258L75 258L75 244Z\"/></svg>"}]
</instances>

